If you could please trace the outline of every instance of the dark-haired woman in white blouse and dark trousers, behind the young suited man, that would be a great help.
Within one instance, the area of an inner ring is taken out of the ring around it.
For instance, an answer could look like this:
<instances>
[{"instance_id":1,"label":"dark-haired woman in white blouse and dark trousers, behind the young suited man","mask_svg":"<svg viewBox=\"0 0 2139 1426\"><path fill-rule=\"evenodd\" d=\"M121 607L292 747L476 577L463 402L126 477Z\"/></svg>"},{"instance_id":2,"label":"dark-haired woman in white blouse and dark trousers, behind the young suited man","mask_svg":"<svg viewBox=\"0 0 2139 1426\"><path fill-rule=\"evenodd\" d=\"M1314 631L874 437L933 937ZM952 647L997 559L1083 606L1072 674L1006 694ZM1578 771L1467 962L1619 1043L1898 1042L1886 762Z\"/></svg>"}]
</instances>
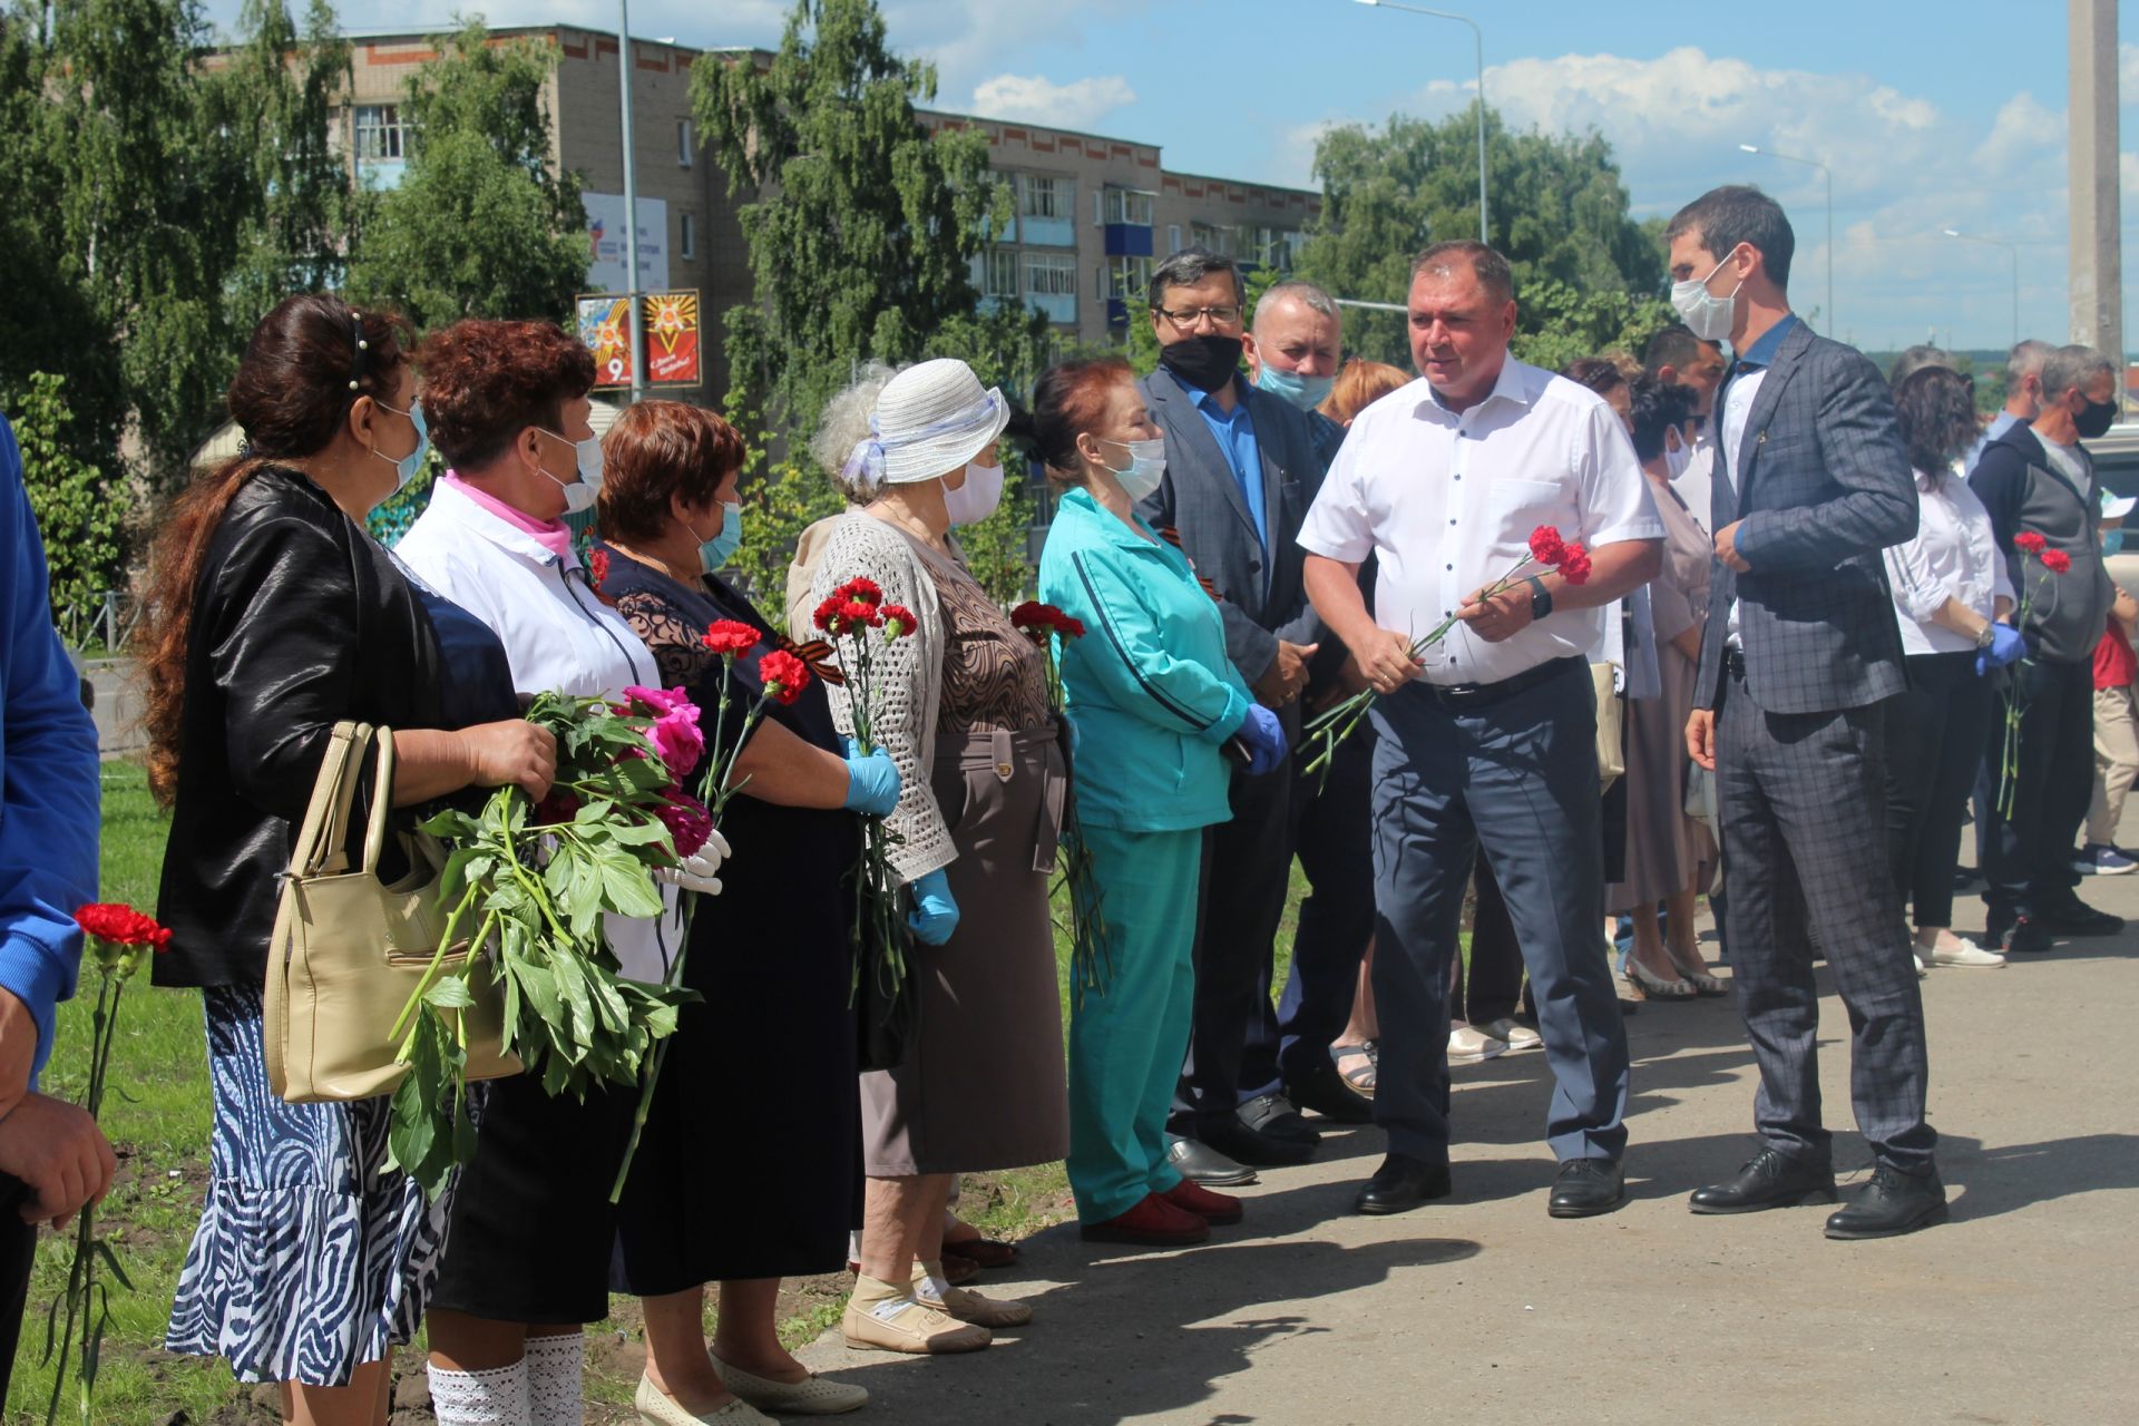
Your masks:
<instances>
[{"instance_id":1,"label":"dark-haired woman in white blouse and dark trousers, behind the young suited man","mask_svg":"<svg viewBox=\"0 0 2139 1426\"><path fill-rule=\"evenodd\" d=\"M1902 440L1917 472L1917 534L1887 549L1908 654L1908 691L1887 703L1887 855L1917 915L1917 966L2002 966L2004 956L1953 934L1961 812L1989 746L1989 671L2021 656L2009 622L2013 584L1991 517L1961 479L1976 438L1968 378L1927 366L1895 387Z\"/></svg>"}]
</instances>

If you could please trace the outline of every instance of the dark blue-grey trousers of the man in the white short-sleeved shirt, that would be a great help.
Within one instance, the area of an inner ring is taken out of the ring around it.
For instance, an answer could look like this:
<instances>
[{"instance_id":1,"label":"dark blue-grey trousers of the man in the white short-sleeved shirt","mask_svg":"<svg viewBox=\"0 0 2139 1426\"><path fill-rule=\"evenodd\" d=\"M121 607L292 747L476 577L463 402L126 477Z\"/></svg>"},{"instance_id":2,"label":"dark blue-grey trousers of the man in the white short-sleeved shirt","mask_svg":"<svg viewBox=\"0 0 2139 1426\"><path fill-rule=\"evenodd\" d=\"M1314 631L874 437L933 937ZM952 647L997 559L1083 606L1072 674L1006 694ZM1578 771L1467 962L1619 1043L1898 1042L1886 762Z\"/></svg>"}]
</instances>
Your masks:
<instances>
[{"instance_id":1,"label":"dark blue-grey trousers of the man in the white short-sleeved shirt","mask_svg":"<svg viewBox=\"0 0 2139 1426\"><path fill-rule=\"evenodd\" d=\"M1628 1052L1604 956L1596 693L1561 676L1482 708L1407 684L1373 708L1373 1120L1388 1150L1448 1163L1448 973L1472 859L1508 900L1553 1071L1553 1154L1626 1150Z\"/></svg>"}]
</instances>

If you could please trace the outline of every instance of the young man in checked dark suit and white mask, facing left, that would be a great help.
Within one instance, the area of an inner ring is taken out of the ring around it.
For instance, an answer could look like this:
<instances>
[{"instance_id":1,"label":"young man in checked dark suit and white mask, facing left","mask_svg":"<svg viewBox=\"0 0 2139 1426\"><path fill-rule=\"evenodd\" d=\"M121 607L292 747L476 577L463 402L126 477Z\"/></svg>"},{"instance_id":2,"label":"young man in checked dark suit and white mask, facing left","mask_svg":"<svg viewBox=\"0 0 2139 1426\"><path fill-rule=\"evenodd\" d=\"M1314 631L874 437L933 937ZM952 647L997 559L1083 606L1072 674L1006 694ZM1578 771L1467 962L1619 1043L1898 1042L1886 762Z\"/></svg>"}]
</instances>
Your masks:
<instances>
[{"instance_id":1,"label":"young man in checked dark suit and white mask, facing left","mask_svg":"<svg viewBox=\"0 0 2139 1426\"><path fill-rule=\"evenodd\" d=\"M1829 1238L1887 1238L1946 1214L1923 1116L1923 998L1887 877L1880 701L1902 635L1880 549L1917 530L1917 485L1878 370L1790 312L1795 237L1756 188L1715 188L1671 220L1671 301L1730 338L1718 400L1715 584L1686 744L1718 774L1726 941L1760 1063L1763 1150L1694 1212L1835 1202L1820 1125L1814 943L1850 1016L1857 1127L1872 1180Z\"/></svg>"}]
</instances>

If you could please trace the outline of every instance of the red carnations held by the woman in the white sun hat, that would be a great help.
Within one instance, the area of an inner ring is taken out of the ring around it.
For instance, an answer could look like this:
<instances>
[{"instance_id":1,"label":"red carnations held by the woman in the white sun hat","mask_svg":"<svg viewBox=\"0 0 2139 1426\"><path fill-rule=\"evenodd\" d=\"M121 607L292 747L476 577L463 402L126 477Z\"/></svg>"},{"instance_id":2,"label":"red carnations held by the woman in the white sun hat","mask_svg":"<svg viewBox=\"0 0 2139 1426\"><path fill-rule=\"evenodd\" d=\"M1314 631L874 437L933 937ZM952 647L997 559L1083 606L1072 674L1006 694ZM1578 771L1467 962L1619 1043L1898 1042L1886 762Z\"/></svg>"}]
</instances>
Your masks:
<instances>
[{"instance_id":1,"label":"red carnations held by the woman in the white sun hat","mask_svg":"<svg viewBox=\"0 0 2139 1426\"><path fill-rule=\"evenodd\" d=\"M853 723L853 746L877 750L877 648L911 635L920 620L905 605L883 603L883 590L873 579L847 579L817 605L811 622L838 648L845 673L847 710ZM875 977L873 998L886 1018L896 1009L907 983L907 904L911 894L892 866L892 847L905 838L883 825L881 817L862 819L862 859L856 864L853 947L856 994L862 975Z\"/></svg>"}]
</instances>

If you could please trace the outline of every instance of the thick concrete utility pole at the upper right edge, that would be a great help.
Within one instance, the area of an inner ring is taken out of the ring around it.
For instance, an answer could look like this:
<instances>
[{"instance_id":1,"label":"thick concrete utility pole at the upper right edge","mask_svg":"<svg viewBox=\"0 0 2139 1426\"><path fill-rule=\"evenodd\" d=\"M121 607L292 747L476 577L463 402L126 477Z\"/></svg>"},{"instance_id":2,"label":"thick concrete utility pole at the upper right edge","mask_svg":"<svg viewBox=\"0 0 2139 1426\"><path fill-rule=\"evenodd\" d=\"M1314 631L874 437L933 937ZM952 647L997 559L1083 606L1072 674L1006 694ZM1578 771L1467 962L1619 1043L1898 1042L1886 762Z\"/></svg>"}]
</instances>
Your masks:
<instances>
[{"instance_id":1,"label":"thick concrete utility pole at the upper right edge","mask_svg":"<svg viewBox=\"0 0 2139 1426\"><path fill-rule=\"evenodd\" d=\"M2124 254L2118 212L2118 6L2068 0L2073 340L2115 363L2124 402Z\"/></svg>"}]
</instances>

